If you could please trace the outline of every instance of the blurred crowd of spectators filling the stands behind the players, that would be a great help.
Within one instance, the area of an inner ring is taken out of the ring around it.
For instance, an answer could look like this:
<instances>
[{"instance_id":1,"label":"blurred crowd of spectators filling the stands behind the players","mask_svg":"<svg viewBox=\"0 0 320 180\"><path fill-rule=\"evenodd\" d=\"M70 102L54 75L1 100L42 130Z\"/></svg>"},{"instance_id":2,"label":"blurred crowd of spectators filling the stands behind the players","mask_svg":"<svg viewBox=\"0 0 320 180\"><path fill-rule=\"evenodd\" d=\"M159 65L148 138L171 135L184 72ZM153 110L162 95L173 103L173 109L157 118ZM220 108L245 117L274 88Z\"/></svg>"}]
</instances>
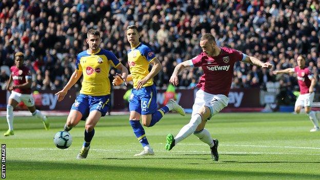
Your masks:
<instances>
[{"instance_id":1,"label":"blurred crowd of spectators filling the stands behind the players","mask_svg":"<svg viewBox=\"0 0 320 180\"><path fill-rule=\"evenodd\" d=\"M163 65L154 78L160 88L168 86L178 63L202 51L198 43L204 33L213 34L219 46L270 62L277 70L296 66L297 55L303 54L318 82L319 4L317 0L2 0L0 83L4 89L14 53L22 51L33 73L34 90L61 89L74 71L77 53L88 48L85 39L90 27L102 32L101 48L112 51L128 67L125 29L132 24L139 26L141 42ZM183 71L179 88L194 88L201 75L201 68ZM275 76L237 63L232 88L266 89L267 82L275 81L286 91L297 87L294 76ZM80 86L78 82L75 88Z\"/></svg>"}]
</instances>

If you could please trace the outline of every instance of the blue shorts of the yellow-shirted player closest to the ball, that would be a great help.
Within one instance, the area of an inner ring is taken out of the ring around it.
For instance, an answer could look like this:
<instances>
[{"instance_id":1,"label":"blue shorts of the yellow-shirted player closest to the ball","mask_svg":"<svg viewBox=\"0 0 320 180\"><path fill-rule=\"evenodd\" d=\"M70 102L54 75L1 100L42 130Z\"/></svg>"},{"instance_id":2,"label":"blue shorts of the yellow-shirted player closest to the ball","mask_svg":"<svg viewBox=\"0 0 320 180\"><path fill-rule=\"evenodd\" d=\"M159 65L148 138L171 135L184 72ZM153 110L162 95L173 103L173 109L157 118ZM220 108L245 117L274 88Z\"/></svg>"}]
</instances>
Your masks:
<instances>
[{"instance_id":1,"label":"blue shorts of the yellow-shirted player closest to the ball","mask_svg":"<svg viewBox=\"0 0 320 180\"><path fill-rule=\"evenodd\" d=\"M110 106L110 95L92 96L79 94L75 99L71 110L81 112L81 120L85 121L91 111L100 111L105 116Z\"/></svg>"}]
</instances>

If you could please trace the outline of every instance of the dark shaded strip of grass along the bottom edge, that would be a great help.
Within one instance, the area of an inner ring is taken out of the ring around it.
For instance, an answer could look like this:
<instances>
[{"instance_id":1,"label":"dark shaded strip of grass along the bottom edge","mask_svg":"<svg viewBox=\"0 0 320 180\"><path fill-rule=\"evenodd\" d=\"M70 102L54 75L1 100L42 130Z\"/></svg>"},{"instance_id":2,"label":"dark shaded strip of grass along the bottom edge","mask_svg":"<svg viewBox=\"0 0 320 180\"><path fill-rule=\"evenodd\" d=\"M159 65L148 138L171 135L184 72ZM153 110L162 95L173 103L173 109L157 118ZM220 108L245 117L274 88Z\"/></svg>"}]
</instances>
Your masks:
<instances>
[{"instance_id":1,"label":"dark shaded strip of grass along the bottom edge","mask_svg":"<svg viewBox=\"0 0 320 180\"><path fill-rule=\"evenodd\" d=\"M210 168L194 168L192 167L177 167L172 168L168 166L160 166L154 162L154 164L140 165L140 164L113 164L111 162L95 162L94 159L83 159L80 161L74 161L66 163L66 161L15 161L11 160L7 162L7 166L10 167L8 178L10 179L141 179L145 178L146 173L156 174L150 175L150 178L157 179L170 179L172 178L201 178L212 177L212 174L218 174L221 177L227 178L248 178L259 177L268 179L317 179L317 174L309 173L295 173L295 172L261 172L259 170L232 170L232 169L215 169ZM97 164L99 163L99 164ZM260 162L255 162L260 163ZM214 167L212 165L212 167ZM143 169L143 170L142 170ZM71 173L72 172L72 173ZM108 173L106 173L108 172ZM162 175L162 176L157 176Z\"/></svg>"}]
</instances>

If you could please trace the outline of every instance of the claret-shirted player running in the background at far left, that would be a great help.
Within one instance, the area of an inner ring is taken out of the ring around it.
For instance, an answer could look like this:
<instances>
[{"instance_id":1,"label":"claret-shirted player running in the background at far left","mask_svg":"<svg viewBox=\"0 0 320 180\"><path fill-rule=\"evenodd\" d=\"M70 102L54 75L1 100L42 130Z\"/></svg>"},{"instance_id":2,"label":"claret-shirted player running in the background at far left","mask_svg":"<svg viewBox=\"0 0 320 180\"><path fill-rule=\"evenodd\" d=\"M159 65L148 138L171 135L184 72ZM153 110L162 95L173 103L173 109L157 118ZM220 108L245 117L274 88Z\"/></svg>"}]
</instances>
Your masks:
<instances>
[{"instance_id":1,"label":"claret-shirted player running in the background at far left","mask_svg":"<svg viewBox=\"0 0 320 180\"><path fill-rule=\"evenodd\" d=\"M45 129L49 129L49 121L41 111L35 109L34 99L31 94L31 72L23 65L24 54L17 52L14 55L14 64L10 68L11 75L7 84L7 90L11 91L7 105L7 122L9 129L4 133L4 136L14 135L13 131L13 109L20 103L23 102L33 116L42 119ZM11 86L11 82L13 85Z\"/></svg>"}]
</instances>

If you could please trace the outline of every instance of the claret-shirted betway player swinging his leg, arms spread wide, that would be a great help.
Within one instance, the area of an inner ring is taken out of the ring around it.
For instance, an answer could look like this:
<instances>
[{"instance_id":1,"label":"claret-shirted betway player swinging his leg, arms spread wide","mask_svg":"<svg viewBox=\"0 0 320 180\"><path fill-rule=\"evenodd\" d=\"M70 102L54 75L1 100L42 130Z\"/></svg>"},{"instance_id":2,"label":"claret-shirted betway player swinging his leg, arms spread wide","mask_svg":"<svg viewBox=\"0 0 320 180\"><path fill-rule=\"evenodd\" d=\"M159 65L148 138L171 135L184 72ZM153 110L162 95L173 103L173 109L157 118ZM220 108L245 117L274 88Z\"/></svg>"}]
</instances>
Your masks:
<instances>
[{"instance_id":1,"label":"claret-shirted betway player swinging his leg, arms spread wide","mask_svg":"<svg viewBox=\"0 0 320 180\"><path fill-rule=\"evenodd\" d=\"M189 61L178 64L170 77L170 83L178 85L178 74L186 67L202 67L204 74L196 85L196 92L190 122L174 137L167 135L165 149L170 151L176 144L190 136L196 135L202 142L209 145L211 156L218 161L218 140L212 139L205 128L207 121L228 105L228 94L231 87L233 66L237 61L272 68L270 63L263 63L259 59L243 54L237 50L219 47L211 34L204 34L200 39L203 52Z\"/></svg>"}]
</instances>

